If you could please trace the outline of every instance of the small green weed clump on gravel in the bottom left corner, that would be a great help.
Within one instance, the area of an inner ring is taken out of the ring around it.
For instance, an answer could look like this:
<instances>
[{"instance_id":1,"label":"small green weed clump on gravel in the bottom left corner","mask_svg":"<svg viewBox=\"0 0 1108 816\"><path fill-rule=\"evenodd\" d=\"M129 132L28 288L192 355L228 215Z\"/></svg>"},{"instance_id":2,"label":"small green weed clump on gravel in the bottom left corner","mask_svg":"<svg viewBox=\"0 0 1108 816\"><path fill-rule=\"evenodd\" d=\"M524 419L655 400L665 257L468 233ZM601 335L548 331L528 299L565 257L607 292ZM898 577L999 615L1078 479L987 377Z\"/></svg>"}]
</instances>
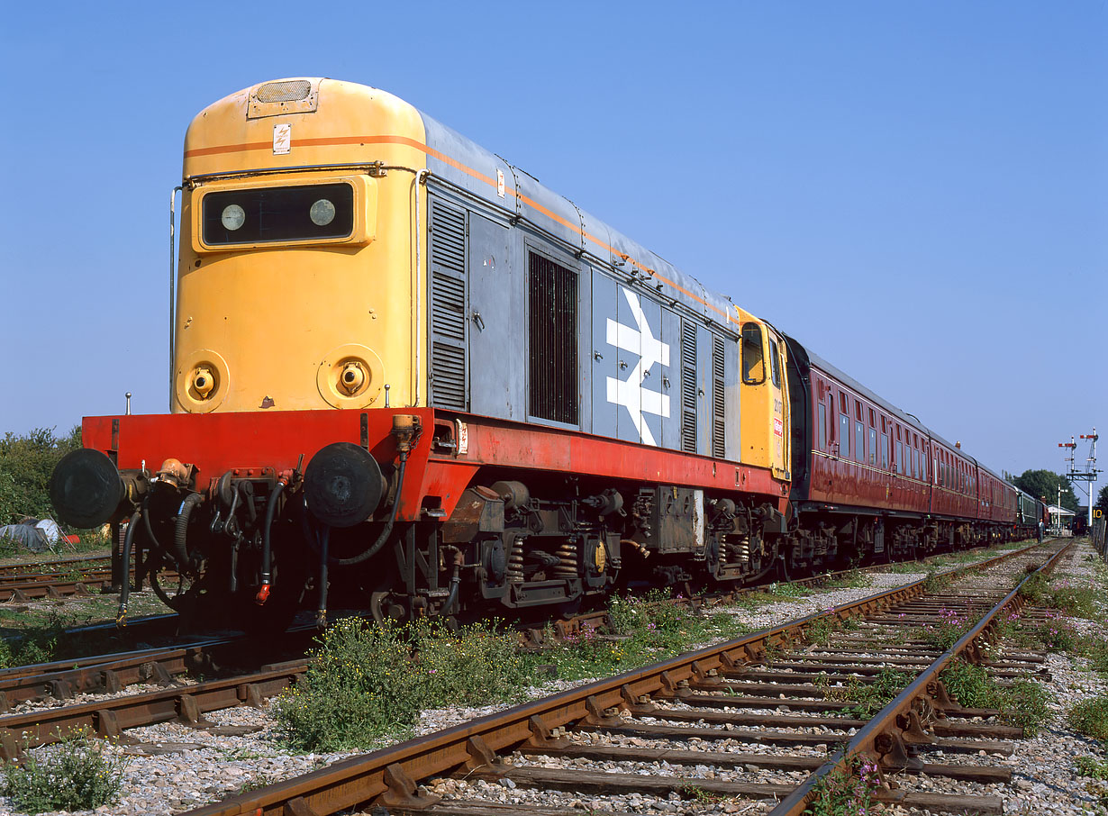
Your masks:
<instances>
[{"instance_id":1,"label":"small green weed clump on gravel in the bottom left corner","mask_svg":"<svg viewBox=\"0 0 1108 816\"><path fill-rule=\"evenodd\" d=\"M91 810L119 798L124 764L123 757L107 755L103 743L76 731L28 753L22 766L6 765L2 792L24 813Z\"/></svg>"}]
</instances>

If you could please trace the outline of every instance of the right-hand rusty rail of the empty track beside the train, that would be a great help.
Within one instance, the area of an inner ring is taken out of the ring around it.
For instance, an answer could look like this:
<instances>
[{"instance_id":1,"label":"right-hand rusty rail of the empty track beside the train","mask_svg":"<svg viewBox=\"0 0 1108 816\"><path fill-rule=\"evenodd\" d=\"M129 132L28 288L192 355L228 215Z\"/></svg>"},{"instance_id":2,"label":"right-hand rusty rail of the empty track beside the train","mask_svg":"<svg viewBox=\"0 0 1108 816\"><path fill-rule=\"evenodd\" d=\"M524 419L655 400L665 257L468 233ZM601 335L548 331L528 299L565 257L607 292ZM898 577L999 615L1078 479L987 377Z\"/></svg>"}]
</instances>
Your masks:
<instances>
[{"instance_id":1,"label":"right-hand rusty rail of the empty track beside the train","mask_svg":"<svg viewBox=\"0 0 1108 816\"><path fill-rule=\"evenodd\" d=\"M1033 574L1026 576L1008 595L996 603L977 623L970 629L954 645L943 652L926 670L912 681L884 709L878 712L870 722L858 731L847 743L841 755L824 763L812 773L801 785L784 797L780 804L770 810L770 816L801 816L804 809L818 795L820 783L835 772L848 768L851 757L863 757L874 763L882 771L900 771L915 766L919 760L912 754L913 743L930 742L927 734L920 730L919 711L926 701L929 706L942 711L943 707L957 710L961 706L944 705L945 691L940 688L938 676L956 658L963 653L979 653L978 639L987 638L1001 614L1013 603L1019 603L1023 586L1034 576L1051 570L1073 547L1073 541L1061 547L1045 564ZM975 661L976 662L976 661ZM903 793L881 791L878 798L895 803L903 798Z\"/></svg>"}]
</instances>

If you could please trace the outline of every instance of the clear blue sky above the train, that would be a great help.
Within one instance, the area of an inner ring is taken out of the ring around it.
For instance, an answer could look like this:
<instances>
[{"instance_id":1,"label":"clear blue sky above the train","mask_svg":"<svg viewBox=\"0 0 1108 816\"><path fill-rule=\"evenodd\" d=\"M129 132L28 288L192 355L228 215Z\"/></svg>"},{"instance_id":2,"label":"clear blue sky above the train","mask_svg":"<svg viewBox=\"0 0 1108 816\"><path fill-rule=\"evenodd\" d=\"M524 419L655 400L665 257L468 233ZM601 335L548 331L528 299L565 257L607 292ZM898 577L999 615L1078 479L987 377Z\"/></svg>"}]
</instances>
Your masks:
<instances>
[{"instance_id":1,"label":"clear blue sky above the train","mask_svg":"<svg viewBox=\"0 0 1108 816\"><path fill-rule=\"evenodd\" d=\"M0 433L166 411L185 127L297 75L406 99L997 471L1108 432L1105 2L402 7L6 12Z\"/></svg>"}]
</instances>

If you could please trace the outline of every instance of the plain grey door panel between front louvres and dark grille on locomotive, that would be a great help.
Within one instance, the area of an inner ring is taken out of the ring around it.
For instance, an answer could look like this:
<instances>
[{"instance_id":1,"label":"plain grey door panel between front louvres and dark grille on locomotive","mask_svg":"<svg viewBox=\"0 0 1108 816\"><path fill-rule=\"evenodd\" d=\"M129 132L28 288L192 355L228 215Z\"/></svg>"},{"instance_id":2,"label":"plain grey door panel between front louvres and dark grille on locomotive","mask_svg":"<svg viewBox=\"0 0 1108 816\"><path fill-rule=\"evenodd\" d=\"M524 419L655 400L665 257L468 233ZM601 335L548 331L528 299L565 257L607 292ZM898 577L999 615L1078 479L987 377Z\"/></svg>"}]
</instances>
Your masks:
<instances>
[{"instance_id":1,"label":"plain grey door panel between front louvres and dark grille on locomotive","mask_svg":"<svg viewBox=\"0 0 1108 816\"><path fill-rule=\"evenodd\" d=\"M523 277L509 257L509 229L470 213L469 357L470 410L503 419L526 419L523 355Z\"/></svg>"}]
</instances>

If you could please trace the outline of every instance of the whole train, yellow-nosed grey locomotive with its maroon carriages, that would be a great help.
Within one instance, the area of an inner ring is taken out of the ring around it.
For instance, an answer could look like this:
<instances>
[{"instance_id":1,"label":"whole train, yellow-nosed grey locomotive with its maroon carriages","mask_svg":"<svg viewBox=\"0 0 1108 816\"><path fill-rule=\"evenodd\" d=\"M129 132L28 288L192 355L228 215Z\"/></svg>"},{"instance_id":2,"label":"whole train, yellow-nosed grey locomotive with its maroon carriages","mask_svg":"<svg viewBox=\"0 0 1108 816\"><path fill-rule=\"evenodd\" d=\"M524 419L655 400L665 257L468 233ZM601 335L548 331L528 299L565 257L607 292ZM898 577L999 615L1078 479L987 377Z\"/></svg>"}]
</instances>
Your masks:
<instances>
[{"instance_id":1,"label":"whole train, yellow-nosed grey locomotive with its maroon carriages","mask_svg":"<svg viewBox=\"0 0 1108 816\"><path fill-rule=\"evenodd\" d=\"M50 489L191 614L572 608L1027 531L957 444L373 87L193 120L175 302L172 413L86 417Z\"/></svg>"}]
</instances>

